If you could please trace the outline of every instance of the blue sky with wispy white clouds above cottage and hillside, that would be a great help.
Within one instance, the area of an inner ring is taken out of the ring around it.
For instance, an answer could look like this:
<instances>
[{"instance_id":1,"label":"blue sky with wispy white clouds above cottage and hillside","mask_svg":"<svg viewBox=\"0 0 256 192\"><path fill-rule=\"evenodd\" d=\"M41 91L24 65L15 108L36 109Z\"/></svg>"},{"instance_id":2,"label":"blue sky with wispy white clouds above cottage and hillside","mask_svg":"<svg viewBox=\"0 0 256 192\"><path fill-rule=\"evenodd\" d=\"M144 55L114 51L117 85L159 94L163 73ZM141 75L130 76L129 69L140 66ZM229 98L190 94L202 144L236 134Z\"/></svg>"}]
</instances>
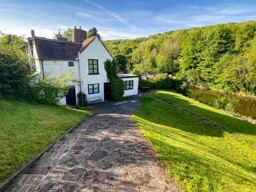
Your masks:
<instances>
[{"instance_id":1,"label":"blue sky with wispy white clouds above cottage and hillside","mask_svg":"<svg viewBox=\"0 0 256 192\"><path fill-rule=\"evenodd\" d=\"M58 29L97 27L106 39L135 38L164 31L256 20L256 1L4 1L0 0L0 31L51 38Z\"/></svg>"}]
</instances>

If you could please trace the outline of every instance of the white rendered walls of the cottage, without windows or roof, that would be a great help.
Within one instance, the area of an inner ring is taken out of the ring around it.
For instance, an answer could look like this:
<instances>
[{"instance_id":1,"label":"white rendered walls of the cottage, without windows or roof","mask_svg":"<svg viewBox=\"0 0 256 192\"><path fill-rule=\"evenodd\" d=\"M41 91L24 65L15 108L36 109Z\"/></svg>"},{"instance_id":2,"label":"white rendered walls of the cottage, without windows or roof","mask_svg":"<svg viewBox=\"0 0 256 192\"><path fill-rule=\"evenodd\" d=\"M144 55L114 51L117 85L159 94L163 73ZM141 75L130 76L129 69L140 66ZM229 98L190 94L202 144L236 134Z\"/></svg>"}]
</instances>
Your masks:
<instances>
[{"instance_id":1,"label":"white rendered walls of the cottage, without windows or roof","mask_svg":"<svg viewBox=\"0 0 256 192\"><path fill-rule=\"evenodd\" d=\"M99 65L99 74L97 75L89 75L89 64L88 59L98 59ZM113 59L102 43L98 38L95 38L93 42L91 42L86 49L79 56L79 65L81 69L81 81L82 81L82 90L86 94L87 100L104 100L104 83L108 82L107 73L104 67L104 62L107 59ZM35 59L36 61L36 59ZM73 61L74 67L68 67L68 62ZM37 60L36 68L42 72L42 65L40 60ZM70 70L74 71L74 77L79 78L79 70L78 70L78 58L76 60L43 60L43 70L45 75L48 74L50 76L54 76L57 74L63 75L68 73ZM139 77L129 77L122 78L123 81L131 81L133 80L133 89L125 90L124 97L130 95L138 94L138 85L139 85ZM99 93L88 94L88 85L89 84L98 84L99 83ZM76 97L77 93L80 91L80 85L74 82L76 89ZM77 98L76 98L76 101ZM60 100L61 105L66 105L66 97Z\"/></svg>"}]
</instances>

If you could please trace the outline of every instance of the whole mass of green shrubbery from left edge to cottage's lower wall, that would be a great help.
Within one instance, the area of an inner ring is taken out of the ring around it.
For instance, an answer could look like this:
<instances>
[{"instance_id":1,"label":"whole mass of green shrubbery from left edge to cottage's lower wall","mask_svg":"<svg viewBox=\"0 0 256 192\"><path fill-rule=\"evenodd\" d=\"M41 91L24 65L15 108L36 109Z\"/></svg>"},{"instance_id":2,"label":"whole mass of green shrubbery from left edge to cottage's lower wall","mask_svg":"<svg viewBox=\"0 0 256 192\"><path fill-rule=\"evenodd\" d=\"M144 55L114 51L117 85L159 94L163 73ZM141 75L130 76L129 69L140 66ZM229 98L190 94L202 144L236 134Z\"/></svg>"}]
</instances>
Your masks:
<instances>
[{"instance_id":1,"label":"whole mass of green shrubbery from left edge to cottage's lower wall","mask_svg":"<svg viewBox=\"0 0 256 192\"><path fill-rule=\"evenodd\" d=\"M74 81L73 73L34 75L29 69L27 43L17 36L0 38L0 93L4 97L34 103L58 103Z\"/></svg>"}]
</instances>

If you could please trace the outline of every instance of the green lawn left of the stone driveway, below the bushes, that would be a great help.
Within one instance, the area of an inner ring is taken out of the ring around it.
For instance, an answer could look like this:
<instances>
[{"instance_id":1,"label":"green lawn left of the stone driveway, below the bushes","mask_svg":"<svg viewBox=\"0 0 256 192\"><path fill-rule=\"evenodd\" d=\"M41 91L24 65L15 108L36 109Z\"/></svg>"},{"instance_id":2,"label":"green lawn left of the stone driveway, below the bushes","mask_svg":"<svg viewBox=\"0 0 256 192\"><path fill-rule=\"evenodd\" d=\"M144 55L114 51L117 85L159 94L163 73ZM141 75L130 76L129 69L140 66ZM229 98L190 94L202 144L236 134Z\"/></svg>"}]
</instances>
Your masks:
<instances>
[{"instance_id":1,"label":"green lawn left of the stone driveway, below the bushes","mask_svg":"<svg viewBox=\"0 0 256 192\"><path fill-rule=\"evenodd\" d=\"M0 99L0 183L82 118L85 110Z\"/></svg>"}]
</instances>

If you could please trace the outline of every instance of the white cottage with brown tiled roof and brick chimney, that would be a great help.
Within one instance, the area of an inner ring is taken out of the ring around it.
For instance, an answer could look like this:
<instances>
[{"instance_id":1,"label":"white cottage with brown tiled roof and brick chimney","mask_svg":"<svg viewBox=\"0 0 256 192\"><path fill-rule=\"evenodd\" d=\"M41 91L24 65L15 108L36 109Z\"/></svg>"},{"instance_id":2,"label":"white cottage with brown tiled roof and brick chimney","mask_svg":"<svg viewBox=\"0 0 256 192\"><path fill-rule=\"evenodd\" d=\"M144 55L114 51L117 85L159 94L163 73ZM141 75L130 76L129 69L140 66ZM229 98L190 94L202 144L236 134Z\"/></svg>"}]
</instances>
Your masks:
<instances>
[{"instance_id":1,"label":"white cottage with brown tiled roof and brick chimney","mask_svg":"<svg viewBox=\"0 0 256 192\"><path fill-rule=\"evenodd\" d=\"M97 36L86 38L86 31L76 27L72 31L72 42L66 38L48 39L36 37L31 30L29 39L33 46L33 57L37 73L56 75L74 71L74 77L81 81L73 82L73 87L61 105L77 104L77 93L81 90L89 102L109 99L109 81L104 62L113 59L105 45ZM124 81L124 97L138 94L139 77L118 74Z\"/></svg>"}]
</instances>

